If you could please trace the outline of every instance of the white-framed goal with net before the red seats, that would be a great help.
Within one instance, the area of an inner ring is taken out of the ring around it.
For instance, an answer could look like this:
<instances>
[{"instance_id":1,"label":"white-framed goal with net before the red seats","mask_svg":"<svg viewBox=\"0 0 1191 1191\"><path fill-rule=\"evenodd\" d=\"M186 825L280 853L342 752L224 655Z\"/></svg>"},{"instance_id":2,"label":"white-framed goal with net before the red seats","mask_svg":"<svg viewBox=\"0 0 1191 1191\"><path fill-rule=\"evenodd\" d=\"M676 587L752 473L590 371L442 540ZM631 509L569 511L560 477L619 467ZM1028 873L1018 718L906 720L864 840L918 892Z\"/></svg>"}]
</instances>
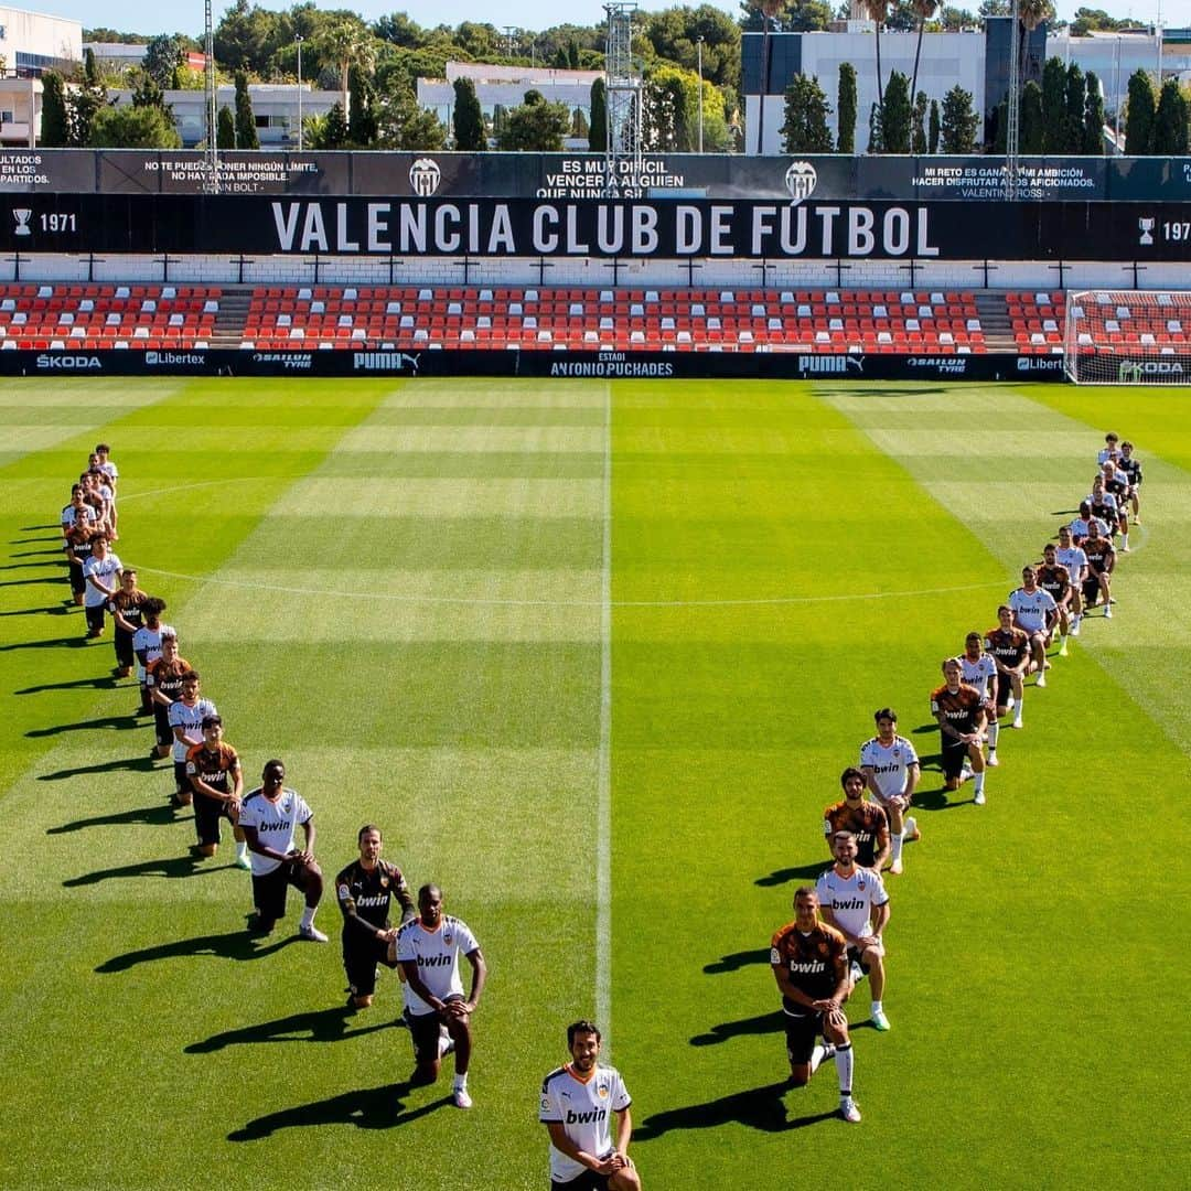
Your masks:
<instances>
[{"instance_id":1,"label":"white-framed goal with net before the red seats","mask_svg":"<svg viewBox=\"0 0 1191 1191\"><path fill-rule=\"evenodd\" d=\"M1062 367L1077 385L1191 384L1191 292L1067 294Z\"/></svg>"}]
</instances>

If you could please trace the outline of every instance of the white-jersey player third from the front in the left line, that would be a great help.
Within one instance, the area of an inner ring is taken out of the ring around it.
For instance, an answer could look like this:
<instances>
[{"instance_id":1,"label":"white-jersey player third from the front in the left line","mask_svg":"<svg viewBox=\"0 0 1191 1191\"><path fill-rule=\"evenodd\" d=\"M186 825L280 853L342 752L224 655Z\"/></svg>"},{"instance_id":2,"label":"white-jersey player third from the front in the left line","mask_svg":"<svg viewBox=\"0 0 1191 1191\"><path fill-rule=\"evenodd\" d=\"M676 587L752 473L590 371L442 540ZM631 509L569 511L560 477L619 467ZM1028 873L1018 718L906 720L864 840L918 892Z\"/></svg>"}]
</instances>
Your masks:
<instances>
[{"instance_id":1,"label":"white-jersey player third from the front in the left line","mask_svg":"<svg viewBox=\"0 0 1191 1191\"><path fill-rule=\"evenodd\" d=\"M285 765L267 761L261 785L249 792L239 809L239 825L252 862L256 906L248 929L254 935L269 934L278 918L285 917L286 891L293 885L306 894L298 937L325 943L326 935L314 925L314 911L323 897L323 869L314 860L314 812L285 780ZM305 848L294 844L299 827L306 836Z\"/></svg>"}]
</instances>

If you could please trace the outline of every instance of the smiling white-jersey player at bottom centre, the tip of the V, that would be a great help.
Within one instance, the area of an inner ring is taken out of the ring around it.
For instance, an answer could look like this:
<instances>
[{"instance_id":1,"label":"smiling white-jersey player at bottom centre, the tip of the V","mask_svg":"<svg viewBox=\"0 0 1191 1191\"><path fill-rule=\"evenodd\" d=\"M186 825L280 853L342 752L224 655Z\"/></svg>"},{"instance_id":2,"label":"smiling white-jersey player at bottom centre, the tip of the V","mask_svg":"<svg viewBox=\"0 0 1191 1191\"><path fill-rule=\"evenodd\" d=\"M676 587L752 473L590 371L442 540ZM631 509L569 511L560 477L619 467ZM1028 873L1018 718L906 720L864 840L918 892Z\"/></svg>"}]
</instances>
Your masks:
<instances>
[{"instance_id":1,"label":"smiling white-jersey player at bottom centre, the tip of the V","mask_svg":"<svg viewBox=\"0 0 1191 1191\"><path fill-rule=\"evenodd\" d=\"M570 1062L542 1080L537 1118L550 1133L550 1191L641 1189L628 1153L632 1098L621 1073L598 1061L600 1042L594 1022L573 1022L567 1027Z\"/></svg>"}]
</instances>

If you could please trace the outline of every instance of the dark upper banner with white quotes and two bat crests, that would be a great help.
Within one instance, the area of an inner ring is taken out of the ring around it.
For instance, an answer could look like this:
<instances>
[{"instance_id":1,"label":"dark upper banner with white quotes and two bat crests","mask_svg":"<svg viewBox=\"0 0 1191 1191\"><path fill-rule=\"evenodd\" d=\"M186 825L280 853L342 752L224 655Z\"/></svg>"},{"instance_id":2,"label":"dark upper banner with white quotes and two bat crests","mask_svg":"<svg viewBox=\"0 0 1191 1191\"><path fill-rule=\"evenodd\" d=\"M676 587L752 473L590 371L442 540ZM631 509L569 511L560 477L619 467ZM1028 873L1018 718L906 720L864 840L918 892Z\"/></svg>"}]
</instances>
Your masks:
<instances>
[{"instance_id":1,"label":"dark upper banner with white quotes and two bat crests","mask_svg":"<svg viewBox=\"0 0 1191 1191\"><path fill-rule=\"evenodd\" d=\"M0 194L191 194L210 191L195 150L0 150ZM225 197L336 195L503 199L752 199L860 202L993 202L1003 157L784 157L656 154L220 154ZM615 193L610 193L610 191ZM1041 202L1191 201L1191 157L1024 157L1021 198Z\"/></svg>"}]
</instances>

